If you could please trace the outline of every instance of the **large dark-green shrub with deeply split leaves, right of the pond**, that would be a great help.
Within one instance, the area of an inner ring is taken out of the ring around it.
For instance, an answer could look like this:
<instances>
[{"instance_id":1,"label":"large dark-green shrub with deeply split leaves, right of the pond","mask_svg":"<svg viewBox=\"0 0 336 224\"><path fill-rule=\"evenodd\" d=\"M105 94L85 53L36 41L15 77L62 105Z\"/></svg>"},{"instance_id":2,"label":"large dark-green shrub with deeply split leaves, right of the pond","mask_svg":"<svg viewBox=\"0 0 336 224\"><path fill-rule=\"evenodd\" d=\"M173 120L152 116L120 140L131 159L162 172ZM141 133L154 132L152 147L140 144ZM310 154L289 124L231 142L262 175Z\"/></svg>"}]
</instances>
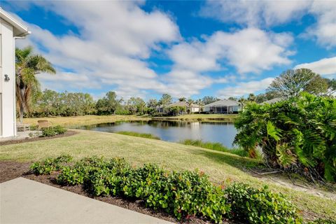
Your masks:
<instances>
[{"instance_id":1,"label":"large dark-green shrub with deeply split leaves, right of the pond","mask_svg":"<svg viewBox=\"0 0 336 224\"><path fill-rule=\"evenodd\" d=\"M302 94L275 104L247 104L235 144L260 147L268 165L309 179L336 181L336 99Z\"/></svg>"}]
</instances>

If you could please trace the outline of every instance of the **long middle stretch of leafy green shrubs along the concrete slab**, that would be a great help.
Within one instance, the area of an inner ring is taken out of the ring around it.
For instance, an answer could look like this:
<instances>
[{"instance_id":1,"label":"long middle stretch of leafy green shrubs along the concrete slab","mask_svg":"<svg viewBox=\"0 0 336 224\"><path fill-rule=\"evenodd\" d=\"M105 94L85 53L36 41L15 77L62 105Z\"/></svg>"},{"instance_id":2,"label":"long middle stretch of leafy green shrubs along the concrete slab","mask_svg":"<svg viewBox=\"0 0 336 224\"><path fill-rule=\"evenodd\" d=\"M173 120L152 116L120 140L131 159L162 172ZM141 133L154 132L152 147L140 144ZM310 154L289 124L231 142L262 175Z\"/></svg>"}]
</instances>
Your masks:
<instances>
[{"instance_id":1,"label":"long middle stretch of leafy green shrubs along the concrete slab","mask_svg":"<svg viewBox=\"0 0 336 224\"><path fill-rule=\"evenodd\" d=\"M134 169L123 159L80 160L64 167L57 182L83 184L93 195L113 195L142 200L146 207L163 209L181 220L203 216L216 223L230 211L223 190L198 172L167 172L156 165Z\"/></svg>"}]
</instances>

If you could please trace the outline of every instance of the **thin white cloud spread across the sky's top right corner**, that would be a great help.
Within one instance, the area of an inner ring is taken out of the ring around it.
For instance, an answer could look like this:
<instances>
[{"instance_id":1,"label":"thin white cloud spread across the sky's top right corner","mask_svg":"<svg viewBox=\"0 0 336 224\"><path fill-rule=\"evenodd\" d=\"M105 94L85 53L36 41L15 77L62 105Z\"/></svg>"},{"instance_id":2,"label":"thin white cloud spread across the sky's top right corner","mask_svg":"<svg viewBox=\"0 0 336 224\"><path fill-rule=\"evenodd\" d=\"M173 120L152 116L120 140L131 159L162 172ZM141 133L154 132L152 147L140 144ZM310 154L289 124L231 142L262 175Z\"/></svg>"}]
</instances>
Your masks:
<instances>
[{"instance_id":1,"label":"thin white cloud spread across the sky's top right corner","mask_svg":"<svg viewBox=\"0 0 336 224\"><path fill-rule=\"evenodd\" d=\"M319 45L333 48L336 46L335 12L336 1L208 0L200 15L246 27L272 27L298 21L309 14L316 18L316 23L301 36L314 37Z\"/></svg>"}]
</instances>

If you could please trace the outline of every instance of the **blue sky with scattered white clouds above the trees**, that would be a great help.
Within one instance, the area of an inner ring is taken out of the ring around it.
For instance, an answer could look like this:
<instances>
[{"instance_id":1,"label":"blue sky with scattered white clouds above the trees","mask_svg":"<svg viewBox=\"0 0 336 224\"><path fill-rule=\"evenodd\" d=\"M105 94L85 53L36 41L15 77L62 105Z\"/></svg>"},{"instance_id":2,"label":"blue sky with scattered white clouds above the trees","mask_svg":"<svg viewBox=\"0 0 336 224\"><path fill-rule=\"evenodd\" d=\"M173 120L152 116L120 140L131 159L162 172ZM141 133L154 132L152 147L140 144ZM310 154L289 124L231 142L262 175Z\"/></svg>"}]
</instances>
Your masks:
<instances>
[{"instance_id":1,"label":"blue sky with scattered white clouds above the trees","mask_svg":"<svg viewBox=\"0 0 336 224\"><path fill-rule=\"evenodd\" d=\"M1 1L57 70L43 89L124 99L265 92L287 69L336 78L336 1Z\"/></svg>"}]
</instances>

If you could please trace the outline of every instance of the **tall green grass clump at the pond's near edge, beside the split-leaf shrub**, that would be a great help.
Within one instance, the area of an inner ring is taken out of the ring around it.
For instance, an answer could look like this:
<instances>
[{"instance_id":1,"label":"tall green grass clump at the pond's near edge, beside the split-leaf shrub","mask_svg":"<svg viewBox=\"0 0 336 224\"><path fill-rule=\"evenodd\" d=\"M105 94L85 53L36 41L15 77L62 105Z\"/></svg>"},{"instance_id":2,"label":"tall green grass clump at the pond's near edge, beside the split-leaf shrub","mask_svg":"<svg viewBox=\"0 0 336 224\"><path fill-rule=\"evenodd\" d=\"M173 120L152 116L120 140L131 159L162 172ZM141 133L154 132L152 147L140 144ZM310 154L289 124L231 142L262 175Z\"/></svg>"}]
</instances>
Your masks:
<instances>
[{"instance_id":1,"label":"tall green grass clump at the pond's near edge, beside the split-leaf shrub","mask_svg":"<svg viewBox=\"0 0 336 224\"><path fill-rule=\"evenodd\" d=\"M243 149L239 149L239 148L230 149L230 148L227 148L227 147L223 146L223 144L221 144L219 142L185 139L183 141L180 141L180 143L183 144L183 145L209 148L209 149L214 150L214 151L232 153L232 154L235 154L235 155L248 157L248 153L246 151L244 151Z\"/></svg>"}]
</instances>

